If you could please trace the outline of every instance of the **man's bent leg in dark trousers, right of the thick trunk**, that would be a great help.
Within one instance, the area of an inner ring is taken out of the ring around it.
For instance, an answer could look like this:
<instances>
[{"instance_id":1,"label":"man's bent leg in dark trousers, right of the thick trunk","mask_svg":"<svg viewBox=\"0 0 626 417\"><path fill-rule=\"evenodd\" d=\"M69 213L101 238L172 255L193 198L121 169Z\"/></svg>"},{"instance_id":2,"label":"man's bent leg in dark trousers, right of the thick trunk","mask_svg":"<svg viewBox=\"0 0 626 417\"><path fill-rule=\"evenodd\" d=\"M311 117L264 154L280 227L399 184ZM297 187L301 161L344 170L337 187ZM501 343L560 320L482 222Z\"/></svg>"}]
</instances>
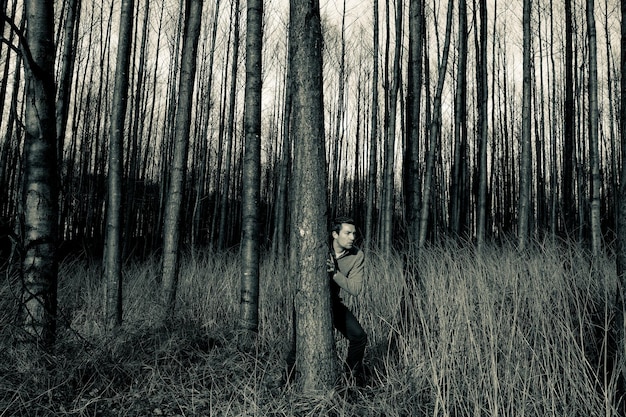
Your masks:
<instances>
[{"instance_id":1,"label":"man's bent leg in dark trousers, right of the thick trunk","mask_svg":"<svg viewBox=\"0 0 626 417\"><path fill-rule=\"evenodd\" d=\"M346 366L355 376L361 374L367 334L354 314L341 302L333 303L333 324L348 339Z\"/></svg>"}]
</instances>

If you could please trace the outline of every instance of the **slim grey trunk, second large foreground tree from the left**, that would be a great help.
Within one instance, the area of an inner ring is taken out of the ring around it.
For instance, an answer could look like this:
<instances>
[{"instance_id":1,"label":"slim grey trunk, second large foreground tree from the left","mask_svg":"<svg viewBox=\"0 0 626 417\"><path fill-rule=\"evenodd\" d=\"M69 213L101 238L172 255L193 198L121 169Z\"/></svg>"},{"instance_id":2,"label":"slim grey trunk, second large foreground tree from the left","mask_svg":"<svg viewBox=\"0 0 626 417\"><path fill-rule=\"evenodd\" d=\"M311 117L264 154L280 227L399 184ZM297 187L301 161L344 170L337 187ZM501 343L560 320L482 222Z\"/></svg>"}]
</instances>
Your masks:
<instances>
[{"instance_id":1,"label":"slim grey trunk, second large foreground tree from the left","mask_svg":"<svg viewBox=\"0 0 626 417\"><path fill-rule=\"evenodd\" d=\"M122 323L122 142L128 103L128 69L130 67L134 0L122 2L117 70L113 90L113 111L109 141L109 190L107 195L106 250L104 276L106 282L106 324L109 328Z\"/></svg>"}]
</instances>

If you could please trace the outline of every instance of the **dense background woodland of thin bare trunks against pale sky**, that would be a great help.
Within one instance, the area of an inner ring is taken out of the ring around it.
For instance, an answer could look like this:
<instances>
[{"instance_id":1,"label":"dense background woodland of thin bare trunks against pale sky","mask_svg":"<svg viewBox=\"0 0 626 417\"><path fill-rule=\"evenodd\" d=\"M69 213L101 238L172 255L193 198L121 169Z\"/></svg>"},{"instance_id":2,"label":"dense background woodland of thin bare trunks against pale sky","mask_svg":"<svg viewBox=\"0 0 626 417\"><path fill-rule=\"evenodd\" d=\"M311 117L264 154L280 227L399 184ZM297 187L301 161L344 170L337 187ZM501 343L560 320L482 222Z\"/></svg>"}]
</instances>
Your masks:
<instances>
[{"instance_id":1,"label":"dense background woodland of thin bare trunks against pale sky","mask_svg":"<svg viewBox=\"0 0 626 417\"><path fill-rule=\"evenodd\" d=\"M391 2L381 3L376 25L371 4L324 4L324 120L332 212L350 213L363 225L365 238L386 245L385 233L393 235L395 246L406 242L407 223L424 209L429 212L424 223L428 239L475 238L482 172L486 207L480 227L487 238L514 234L520 161L526 158L522 144L529 142L529 230L589 240L592 211L599 210L597 227L612 243L620 170L618 6L596 1L596 68L591 68L581 1L532 2L528 64L523 64L517 3L486 2L486 10L480 2L429 3L420 15L422 39L411 43L408 4L394 9ZM96 254L105 229L119 7L119 2L107 1L55 2L60 233L64 242L73 242L72 249ZM126 255L145 256L161 247L183 7L167 0L136 1L132 12L122 140ZM241 235L246 21L244 4L234 0L205 2L203 7L181 235L185 244L225 248L236 245ZM0 214L4 228L19 231L25 100L16 48L25 16L21 2L6 1L2 8L9 20L3 22L0 54ZM288 17L286 4L265 5L259 211L268 247L284 245L286 238L288 150L297 140L290 138L285 123L290 110ZM409 60L419 63L417 73L408 72ZM525 115L524 68L530 71ZM416 82L420 88L413 97L409 86ZM591 124L596 106L597 121ZM527 138L524 122L530 123ZM411 196L413 181L428 190ZM427 192L430 204L423 206ZM409 197L418 204L411 213Z\"/></svg>"}]
</instances>

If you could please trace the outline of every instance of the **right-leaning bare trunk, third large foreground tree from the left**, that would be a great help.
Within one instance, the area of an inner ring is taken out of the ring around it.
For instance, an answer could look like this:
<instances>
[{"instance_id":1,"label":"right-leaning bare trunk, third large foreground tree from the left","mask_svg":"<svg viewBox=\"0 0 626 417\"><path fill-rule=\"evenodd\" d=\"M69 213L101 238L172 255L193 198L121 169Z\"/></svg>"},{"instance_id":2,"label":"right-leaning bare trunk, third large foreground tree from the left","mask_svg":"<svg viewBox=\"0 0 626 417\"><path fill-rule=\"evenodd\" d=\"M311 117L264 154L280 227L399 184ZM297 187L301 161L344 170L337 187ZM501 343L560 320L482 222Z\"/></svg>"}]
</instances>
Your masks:
<instances>
[{"instance_id":1,"label":"right-leaning bare trunk, third large foreground tree from the left","mask_svg":"<svg viewBox=\"0 0 626 417\"><path fill-rule=\"evenodd\" d=\"M163 321L172 318L176 307L176 290L178 287L178 269L180 261L181 206L184 198L184 179L187 167L187 151L189 148L191 104L195 85L196 58L201 20L202 0L186 0L178 106L174 125L174 159L163 223L163 275L161 281L164 307Z\"/></svg>"}]
</instances>

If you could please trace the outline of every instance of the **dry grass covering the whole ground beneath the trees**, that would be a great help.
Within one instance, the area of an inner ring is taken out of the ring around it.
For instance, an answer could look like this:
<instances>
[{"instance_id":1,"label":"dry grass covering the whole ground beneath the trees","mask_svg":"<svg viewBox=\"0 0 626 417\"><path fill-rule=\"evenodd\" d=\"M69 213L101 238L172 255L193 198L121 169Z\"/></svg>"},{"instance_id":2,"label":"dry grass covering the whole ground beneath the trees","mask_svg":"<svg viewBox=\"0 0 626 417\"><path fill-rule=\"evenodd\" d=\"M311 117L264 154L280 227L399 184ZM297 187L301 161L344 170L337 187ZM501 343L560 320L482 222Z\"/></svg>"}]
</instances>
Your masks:
<instances>
[{"instance_id":1,"label":"dry grass covering the whole ground beneath the trees","mask_svg":"<svg viewBox=\"0 0 626 417\"><path fill-rule=\"evenodd\" d=\"M235 252L186 257L169 328L157 320L158 260L127 265L124 325L114 336L101 325L99 266L66 262L59 345L43 371L25 366L2 316L0 416L612 416L615 382L601 359L613 265L555 243L525 253L454 243L391 259L369 253L365 292L345 300L369 335L369 385L344 381L310 398L275 385L293 282L272 256L261 266L254 355L236 348ZM1 311L15 311L16 285L7 275ZM339 336L337 350L339 360Z\"/></svg>"}]
</instances>

